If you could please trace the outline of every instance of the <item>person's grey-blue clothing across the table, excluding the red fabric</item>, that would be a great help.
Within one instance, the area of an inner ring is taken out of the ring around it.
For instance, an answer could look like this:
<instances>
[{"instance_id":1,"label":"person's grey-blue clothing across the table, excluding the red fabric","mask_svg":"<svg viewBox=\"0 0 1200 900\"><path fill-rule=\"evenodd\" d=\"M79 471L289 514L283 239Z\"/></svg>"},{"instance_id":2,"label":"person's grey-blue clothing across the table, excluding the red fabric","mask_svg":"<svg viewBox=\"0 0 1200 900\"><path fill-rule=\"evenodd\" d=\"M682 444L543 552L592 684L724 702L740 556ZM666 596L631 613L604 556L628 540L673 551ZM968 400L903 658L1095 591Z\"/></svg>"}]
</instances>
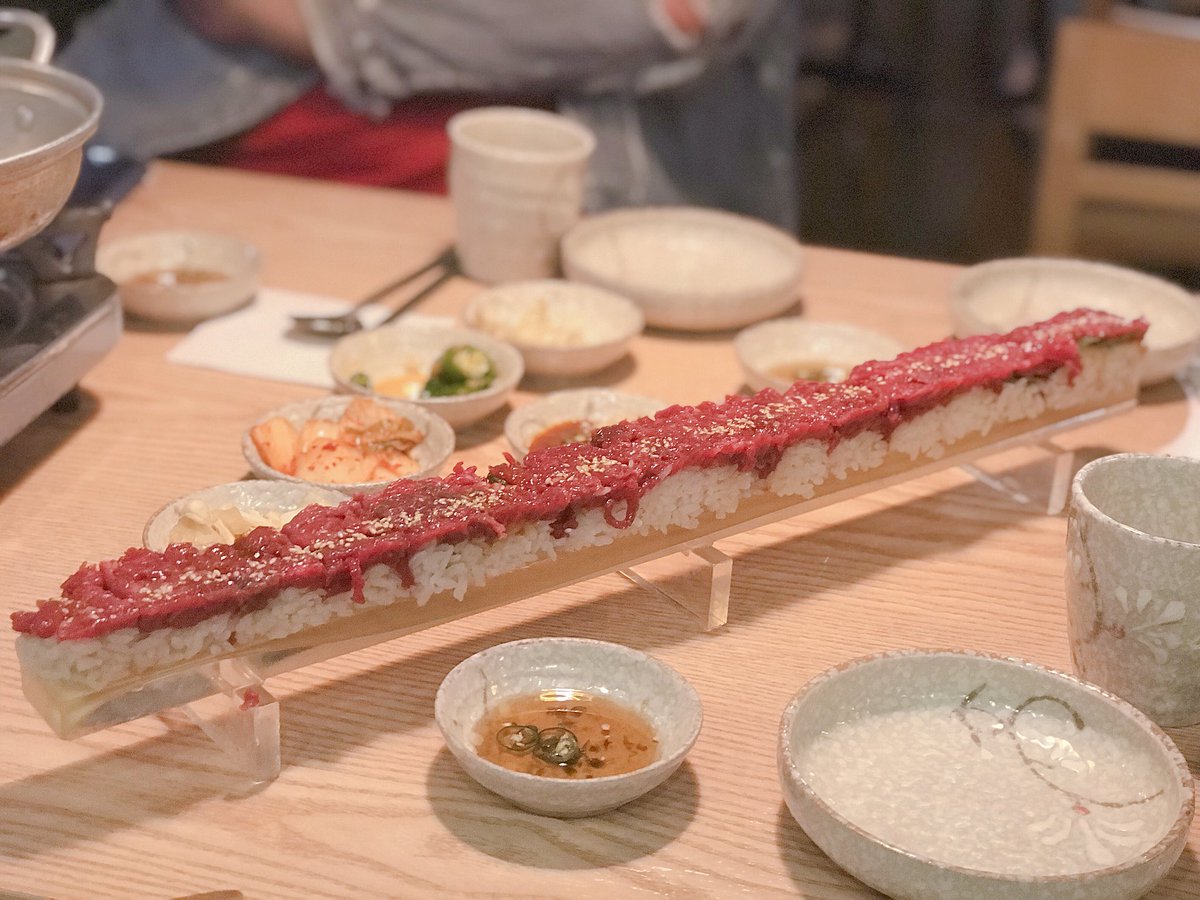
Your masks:
<instances>
[{"instance_id":1,"label":"person's grey-blue clothing across the table, excluding the red fabric","mask_svg":"<svg viewBox=\"0 0 1200 900\"><path fill-rule=\"evenodd\" d=\"M588 208L696 204L794 228L792 0L708 0L700 40L656 0L302 0L319 71L112 0L58 62L104 94L98 140L151 157L245 131L324 79L368 115L426 92L544 94L596 136Z\"/></svg>"}]
</instances>

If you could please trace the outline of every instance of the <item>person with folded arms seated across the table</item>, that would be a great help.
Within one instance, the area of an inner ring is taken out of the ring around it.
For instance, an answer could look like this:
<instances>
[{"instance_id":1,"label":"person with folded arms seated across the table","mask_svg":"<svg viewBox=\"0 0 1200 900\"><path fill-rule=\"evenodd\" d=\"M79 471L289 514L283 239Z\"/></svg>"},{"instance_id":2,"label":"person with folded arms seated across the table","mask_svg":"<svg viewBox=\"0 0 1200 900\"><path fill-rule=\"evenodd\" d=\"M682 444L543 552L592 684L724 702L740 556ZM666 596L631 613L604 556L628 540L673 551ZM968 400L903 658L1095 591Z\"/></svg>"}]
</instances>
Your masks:
<instances>
[{"instance_id":1,"label":"person with folded arms seated across the table","mask_svg":"<svg viewBox=\"0 0 1200 900\"><path fill-rule=\"evenodd\" d=\"M443 191L446 120L553 108L596 136L589 210L796 229L793 0L110 0L58 64L138 158Z\"/></svg>"}]
</instances>

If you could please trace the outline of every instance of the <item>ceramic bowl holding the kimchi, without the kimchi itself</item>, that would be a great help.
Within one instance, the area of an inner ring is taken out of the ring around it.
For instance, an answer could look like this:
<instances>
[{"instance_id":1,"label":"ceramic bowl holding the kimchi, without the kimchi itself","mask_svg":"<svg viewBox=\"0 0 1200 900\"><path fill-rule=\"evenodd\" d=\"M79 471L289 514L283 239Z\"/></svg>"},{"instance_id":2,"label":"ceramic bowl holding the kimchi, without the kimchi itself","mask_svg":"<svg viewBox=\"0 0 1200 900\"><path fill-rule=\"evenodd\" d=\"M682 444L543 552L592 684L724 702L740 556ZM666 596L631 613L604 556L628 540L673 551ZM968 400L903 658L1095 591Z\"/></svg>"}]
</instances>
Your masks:
<instances>
[{"instance_id":1,"label":"ceramic bowl holding the kimchi, without the kimchi itself","mask_svg":"<svg viewBox=\"0 0 1200 900\"><path fill-rule=\"evenodd\" d=\"M265 422L275 416L287 419L296 430L301 428L304 424L311 419L337 420L354 400L355 397L346 395L320 397L318 400L300 401L299 403L288 403L287 406L264 413L257 421L251 424L250 428L246 430L241 438L241 452L246 457L246 462L250 463L251 472L253 472L258 478L293 481L300 485L314 485L317 487L328 487L342 493L378 491L384 485L390 484L394 479L384 481L361 481L356 484L336 484L308 481L295 475L288 475L287 473L268 466L262 455L258 452L258 448L254 446L254 442L250 437L250 431L254 425ZM449 422L436 413L431 413L415 403L406 403L400 400L389 400L386 397L372 397L372 400L376 403L379 403L380 406L384 406L388 409L404 416L412 421L421 431L421 433L425 434L425 439L414 446L410 454L416 461L419 469L406 478L421 478L422 475L433 474L442 467L442 463L450 457L450 454L454 452L454 428L451 428Z\"/></svg>"}]
</instances>

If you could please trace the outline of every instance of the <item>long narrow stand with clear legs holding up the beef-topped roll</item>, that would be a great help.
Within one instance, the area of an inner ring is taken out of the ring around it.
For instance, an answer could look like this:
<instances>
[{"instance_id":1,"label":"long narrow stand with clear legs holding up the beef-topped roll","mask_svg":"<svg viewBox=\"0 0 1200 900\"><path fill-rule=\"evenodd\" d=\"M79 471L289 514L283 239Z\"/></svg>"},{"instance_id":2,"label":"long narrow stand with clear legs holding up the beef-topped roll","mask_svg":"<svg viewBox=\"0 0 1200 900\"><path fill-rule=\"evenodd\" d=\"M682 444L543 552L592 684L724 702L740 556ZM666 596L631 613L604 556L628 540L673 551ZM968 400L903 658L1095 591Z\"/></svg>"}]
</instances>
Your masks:
<instances>
[{"instance_id":1,"label":"long narrow stand with clear legs holding up the beef-topped roll","mask_svg":"<svg viewBox=\"0 0 1200 900\"><path fill-rule=\"evenodd\" d=\"M708 630L720 628L728 617L733 560L716 550L714 541L953 467L1052 515L1066 503L1073 455L1051 438L1134 404L1133 398L1118 400L1098 409L1064 413L1058 421L1036 428L1013 422L960 442L954 454L938 460L895 460L868 472L848 473L841 481L821 485L810 499L761 494L730 516L704 520L697 528L618 539L499 575L484 588L468 590L462 600L438 595L415 606L401 599L259 647L241 648L226 658L184 662L94 692L29 678L23 688L34 707L65 738L182 709L250 779L270 781L280 772L278 703L264 685L271 676L608 572L620 572L671 598ZM1014 451L1032 456L1032 462L1013 467ZM1001 454L1009 467L996 469L991 461L1000 460ZM982 463L984 457L991 460Z\"/></svg>"}]
</instances>

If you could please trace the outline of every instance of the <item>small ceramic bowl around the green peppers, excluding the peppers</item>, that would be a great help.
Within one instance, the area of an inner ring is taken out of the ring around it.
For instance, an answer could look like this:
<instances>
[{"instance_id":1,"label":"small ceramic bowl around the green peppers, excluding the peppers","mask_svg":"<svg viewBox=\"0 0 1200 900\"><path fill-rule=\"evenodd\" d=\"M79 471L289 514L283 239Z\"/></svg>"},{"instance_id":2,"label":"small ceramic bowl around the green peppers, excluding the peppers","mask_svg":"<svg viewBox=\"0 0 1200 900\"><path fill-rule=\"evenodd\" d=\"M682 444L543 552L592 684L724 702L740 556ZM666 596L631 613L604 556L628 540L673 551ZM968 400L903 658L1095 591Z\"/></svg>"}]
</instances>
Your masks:
<instances>
[{"instance_id":1,"label":"small ceramic bowl around the green peppers, excluding the peppers","mask_svg":"<svg viewBox=\"0 0 1200 900\"><path fill-rule=\"evenodd\" d=\"M452 427L463 428L503 407L524 374L521 352L512 344L476 329L401 322L341 338L329 355L329 371L342 390L379 397L354 377L362 373L371 384L377 384L410 371L428 374L438 356L457 344L476 347L488 355L496 367L492 385L457 397L414 397L410 402L440 415Z\"/></svg>"}]
</instances>

